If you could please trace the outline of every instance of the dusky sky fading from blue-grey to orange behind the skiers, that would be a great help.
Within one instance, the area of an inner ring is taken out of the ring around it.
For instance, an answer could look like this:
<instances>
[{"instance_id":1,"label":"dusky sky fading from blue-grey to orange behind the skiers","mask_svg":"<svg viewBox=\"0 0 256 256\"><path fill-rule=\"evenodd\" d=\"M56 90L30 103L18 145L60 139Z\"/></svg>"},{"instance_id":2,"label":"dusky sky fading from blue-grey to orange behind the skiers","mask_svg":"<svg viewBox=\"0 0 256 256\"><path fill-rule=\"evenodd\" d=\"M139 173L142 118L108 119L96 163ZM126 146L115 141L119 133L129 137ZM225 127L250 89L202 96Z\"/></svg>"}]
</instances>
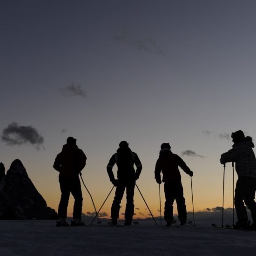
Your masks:
<instances>
[{"instance_id":1,"label":"dusky sky fading from blue-grey to orange behind the skiers","mask_svg":"<svg viewBox=\"0 0 256 256\"><path fill-rule=\"evenodd\" d=\"M195 211L221 206L219 159L231 133L256 137L255 11L254 0L1 0L0 162L8 170L20 159L57 210L52 166L73 136L99 209L112 188L108 161L128 141L143 166L137 185L157 216L155 162L169 142L194 172ZM181 173L191 211L191 179ZM92 213L82 191L83 212ZM120 216L125 196L121 205ZM135 207L135 217L148 216L136 189ZM232 207L231 164L224 207Z\"/></svg>"}]
</instances>

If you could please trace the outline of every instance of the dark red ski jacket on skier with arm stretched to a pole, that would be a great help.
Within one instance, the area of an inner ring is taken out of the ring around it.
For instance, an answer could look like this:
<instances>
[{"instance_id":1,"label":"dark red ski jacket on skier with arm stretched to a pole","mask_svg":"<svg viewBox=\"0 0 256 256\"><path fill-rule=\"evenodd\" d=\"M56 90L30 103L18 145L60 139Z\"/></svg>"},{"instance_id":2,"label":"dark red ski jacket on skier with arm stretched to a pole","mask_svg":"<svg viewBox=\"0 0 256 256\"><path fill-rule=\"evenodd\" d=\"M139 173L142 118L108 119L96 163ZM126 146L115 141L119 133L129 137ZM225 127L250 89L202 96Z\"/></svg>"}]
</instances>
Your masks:
<instances>
[{"instance_id":1,"label":"dark red ski jacket on skier with arm stretched to a pole","mask_svg":"<svg viewBox=\"0 0 256 256\"><path fill-rule=\"evenodd\" d=\"M161 171L162 171L162 182L169 181L181 181L181 174L179 168L186 174L190 174L191 170L186 165L186 163L179 157L172 153L168 148L163 148L160 150L159 158L155 164L155 179L161 180Z\"/></svg>"}]
</instances>

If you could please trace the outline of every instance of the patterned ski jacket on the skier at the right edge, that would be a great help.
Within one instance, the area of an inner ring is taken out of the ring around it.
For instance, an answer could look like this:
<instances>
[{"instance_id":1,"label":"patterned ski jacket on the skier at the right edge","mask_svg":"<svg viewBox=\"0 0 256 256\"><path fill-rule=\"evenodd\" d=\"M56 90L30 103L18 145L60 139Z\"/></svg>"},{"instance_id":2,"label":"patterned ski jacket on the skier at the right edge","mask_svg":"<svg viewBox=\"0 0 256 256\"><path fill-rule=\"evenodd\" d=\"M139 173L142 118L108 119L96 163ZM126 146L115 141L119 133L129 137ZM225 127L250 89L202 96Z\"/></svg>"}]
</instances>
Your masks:
<instances>
[{"instance_id":1,"label":"patterned ski jacket on the skier at the right edge","mask_svg":"<svg viewBox=\"0 0 256 256\"><path fill-rule=\"evenodd\" d=\"M241 176L256 178L256 158L251 141L235 143L228 152L221 155L221 163L235 162L238 178Z\"/></svg>"}]
</instances>

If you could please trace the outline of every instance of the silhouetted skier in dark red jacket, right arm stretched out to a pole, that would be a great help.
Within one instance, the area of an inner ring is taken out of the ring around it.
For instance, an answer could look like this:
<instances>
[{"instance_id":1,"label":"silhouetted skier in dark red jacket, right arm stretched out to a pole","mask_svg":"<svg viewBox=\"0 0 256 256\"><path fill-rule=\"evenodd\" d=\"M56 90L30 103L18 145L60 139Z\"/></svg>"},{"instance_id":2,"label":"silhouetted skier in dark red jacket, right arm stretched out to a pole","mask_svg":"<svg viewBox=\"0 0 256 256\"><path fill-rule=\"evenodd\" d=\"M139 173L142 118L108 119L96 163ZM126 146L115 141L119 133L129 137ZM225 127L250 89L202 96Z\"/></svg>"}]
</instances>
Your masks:
<instances>
[{"instance_id":1,"label":"silhouetted skier in dark red jacket, right arm stretched out to a pole","mask_svg":"<svg viewBox=\"0 0 256 256\"><path fill-rule=\"evenodd\" d=\"M167 226L170 226L173 221L173 203L176 200L178 209L178 218L181 225L187 223L187 209L185 205L185 198L183 197L183 187L181 174L178 167L193 176L193 172L189 169L186 163L171 151L171 146L169 143L163 143L161 145L161 150L159 158L155 164L155 180L158 184L164 182L164 194L165 194L165 204L164 204L164 219L167 222ZM161 181L161 171L162 171L162 181Z\"/></svg>"}]
</instances>

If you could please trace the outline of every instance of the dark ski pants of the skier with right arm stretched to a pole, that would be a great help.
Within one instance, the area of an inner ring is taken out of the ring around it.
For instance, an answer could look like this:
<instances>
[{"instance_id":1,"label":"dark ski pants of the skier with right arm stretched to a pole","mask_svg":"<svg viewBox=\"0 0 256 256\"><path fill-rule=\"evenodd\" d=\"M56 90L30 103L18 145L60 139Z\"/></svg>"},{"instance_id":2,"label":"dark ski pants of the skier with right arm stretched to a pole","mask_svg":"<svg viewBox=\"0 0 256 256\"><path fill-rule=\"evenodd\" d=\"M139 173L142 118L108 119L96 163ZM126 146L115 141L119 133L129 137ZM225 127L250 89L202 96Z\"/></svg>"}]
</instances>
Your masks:
<instances>
[{"instance_id":1,"label":"dark ski pants of the skier with right arm stretched to a pole","mask_svg":"<svg viewBox=\"0 0 256 256\"><path fill-rule=\"evenodd\" d=\"M185 198L183 197L183 187L181 181L168 181L164 183L164 218L165 220L173 220L173 203L177 203L179 220L187 220L187 209L185 205Z\"/></svg>"}]
</instances>

